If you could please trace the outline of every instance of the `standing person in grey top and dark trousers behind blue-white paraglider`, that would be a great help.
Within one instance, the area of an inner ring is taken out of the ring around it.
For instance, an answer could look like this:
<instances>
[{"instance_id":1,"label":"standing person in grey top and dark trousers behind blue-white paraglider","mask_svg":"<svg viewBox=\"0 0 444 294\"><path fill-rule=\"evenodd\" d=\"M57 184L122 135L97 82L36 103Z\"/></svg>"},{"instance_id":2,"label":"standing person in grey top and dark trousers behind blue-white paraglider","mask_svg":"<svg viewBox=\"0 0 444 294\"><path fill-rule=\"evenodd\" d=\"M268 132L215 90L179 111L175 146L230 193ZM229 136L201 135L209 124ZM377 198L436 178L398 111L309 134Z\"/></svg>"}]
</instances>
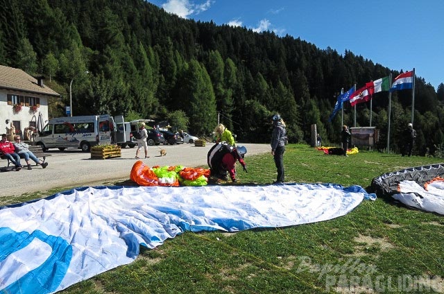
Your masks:
<instances>
[{"instance_id":1,"label":"standing person in grey top and dark trousers behind blue-white paraglider","mask_svg":"<svg viewBox=\"0 0 444 294\"><path fill-rule=\"evenodd\" d=\"M276 169L278 171L278 178L276 178L273 184L284 184L284 152L287 131L285 130L285 123L280 117L280 114L273 115L271 119L273 121L273 132L271 132L271 155L273 155Z\"/></svg>"}]
</instances>

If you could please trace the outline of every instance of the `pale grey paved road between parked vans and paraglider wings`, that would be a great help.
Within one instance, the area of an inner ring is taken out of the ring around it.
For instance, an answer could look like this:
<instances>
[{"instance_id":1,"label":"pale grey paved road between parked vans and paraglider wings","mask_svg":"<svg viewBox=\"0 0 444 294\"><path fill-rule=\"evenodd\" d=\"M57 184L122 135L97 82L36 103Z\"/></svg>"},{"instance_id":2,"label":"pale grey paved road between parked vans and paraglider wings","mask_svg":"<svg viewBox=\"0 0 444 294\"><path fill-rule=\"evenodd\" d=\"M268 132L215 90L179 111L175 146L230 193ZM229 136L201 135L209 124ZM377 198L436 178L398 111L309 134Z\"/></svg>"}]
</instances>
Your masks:
<instances>
[{"instance_id":1,"label":"pale grey paved road between parked vans and paraglider wings","mask_svg":"<svg viewBox=\"0 0 444 294\"><path fill-rule=\"evenodd\" d=\"M238 144L246 146L246 157L270 150L268 144ZM148 146L148 159L142 159L148 166L175 166L188 167L207 166L207 153L213 144L196 147L194 144L180 144L175 146ZM167 150L167 156L160 157L160 148ZM49 155L46 168L33 165L28 171L9 171L0 173L0 197L19 196L23 193L47 191L66 187L96 186L107 183L129 180L130 171L135 163L137 148L124 148L121 157L110 159L91 159L90 153L83 153L78 149L60 151L51 149L46 151ZM143 149L141 150L143 156ZM22 164L24 164L22 159ZM5 166L6 160L0 161Z\"/></svg>"}]
</instances>

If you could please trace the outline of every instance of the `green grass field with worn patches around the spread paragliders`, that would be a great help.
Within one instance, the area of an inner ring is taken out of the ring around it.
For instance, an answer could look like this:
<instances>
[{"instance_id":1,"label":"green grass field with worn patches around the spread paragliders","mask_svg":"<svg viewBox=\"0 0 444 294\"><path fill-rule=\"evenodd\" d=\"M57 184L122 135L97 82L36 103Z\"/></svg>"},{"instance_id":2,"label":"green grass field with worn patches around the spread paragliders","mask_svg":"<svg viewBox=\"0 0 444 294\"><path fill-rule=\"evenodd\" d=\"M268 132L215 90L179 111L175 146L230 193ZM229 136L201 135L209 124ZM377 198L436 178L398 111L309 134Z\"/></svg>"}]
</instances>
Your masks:
<instances>
[{"instance_id":1,"label":"green grass field with worn patches around the spread paragliders","mask_svg":"<svg viewBox=\"0 0 444 294\"><path fill-rule=\"evenodd\" d=\"M302 145L284 153L287 182L345 187L366 188L382 173L439 162L365 151L324 155ZM275 180L271 155L246 157L246 163L248 173L239 168L240 184ZM42 194L10 201L36 197ZM364 200L350 214L321 223L185 232L62 293L442 293L443 226L443 216L382 198Z\"/></svg>"}]
</instances>

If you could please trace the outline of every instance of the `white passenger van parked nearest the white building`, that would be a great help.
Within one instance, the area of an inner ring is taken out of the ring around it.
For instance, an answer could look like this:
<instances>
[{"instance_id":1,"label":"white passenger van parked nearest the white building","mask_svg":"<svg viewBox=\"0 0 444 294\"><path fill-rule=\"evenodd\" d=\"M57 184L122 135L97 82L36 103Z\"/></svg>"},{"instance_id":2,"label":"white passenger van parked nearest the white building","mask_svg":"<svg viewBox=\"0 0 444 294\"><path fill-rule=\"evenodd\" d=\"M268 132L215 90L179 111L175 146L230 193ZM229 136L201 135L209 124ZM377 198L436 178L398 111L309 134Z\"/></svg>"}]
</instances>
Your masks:
<instances>
[{"instance_id":1,"label":"white passenger van parked nearest the white building","mask_svg":"<svg viewBox=\"0 0 444 294\"><path fill-rule=\"evenodd\" d=\"M114 143L114 119L109 114L67 116L50 119L35 137L35 144L49 148L80 148L89 152L91 146Z\"/></svg>"}]
</instances>

